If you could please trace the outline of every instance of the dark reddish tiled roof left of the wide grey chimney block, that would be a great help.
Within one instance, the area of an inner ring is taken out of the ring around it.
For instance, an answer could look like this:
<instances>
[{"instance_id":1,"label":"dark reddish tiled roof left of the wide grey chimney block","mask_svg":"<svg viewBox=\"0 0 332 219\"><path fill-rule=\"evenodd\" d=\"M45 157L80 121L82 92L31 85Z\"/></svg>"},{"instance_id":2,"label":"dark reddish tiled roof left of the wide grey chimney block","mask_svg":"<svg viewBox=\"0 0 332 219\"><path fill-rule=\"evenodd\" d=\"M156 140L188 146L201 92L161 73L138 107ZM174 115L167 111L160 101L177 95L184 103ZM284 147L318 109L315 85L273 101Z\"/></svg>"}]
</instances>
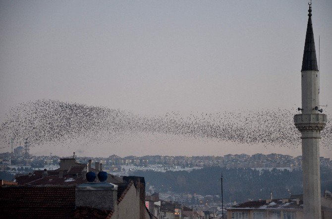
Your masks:
<instances>
[{"instance_id":1,"label":"dark reddish tiled roof left of the wide grey chimney block","mask_svg":"<svg viewBox=\"0 0 332 219\"><path fill-rule=\"evenodd\" d=\"M75 187L2 187L0 218L72 218Z\"/></svg>"}]
</instances>

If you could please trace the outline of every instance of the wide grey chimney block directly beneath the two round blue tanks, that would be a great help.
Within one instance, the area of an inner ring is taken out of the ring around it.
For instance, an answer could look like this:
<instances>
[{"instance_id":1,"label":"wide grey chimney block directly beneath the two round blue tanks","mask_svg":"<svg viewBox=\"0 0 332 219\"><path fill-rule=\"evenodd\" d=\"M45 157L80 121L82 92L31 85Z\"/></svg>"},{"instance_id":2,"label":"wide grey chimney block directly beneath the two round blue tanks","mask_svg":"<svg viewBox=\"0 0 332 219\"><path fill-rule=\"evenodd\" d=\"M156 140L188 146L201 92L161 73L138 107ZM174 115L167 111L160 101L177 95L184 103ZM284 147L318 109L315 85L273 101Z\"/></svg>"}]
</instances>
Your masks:
<instances>
[{"instance_id":1,"label":"wide grey chimney block directly beneath the two round blue tanks","mask_svg":"<svg viewBox=\"0 0 332 219\"><path fill-rule=\"evenodd\" d=\"M117 185L109 182L87 182L75 188L75 207L115 211L116 201Z\"/></svg>"}]
</instances>

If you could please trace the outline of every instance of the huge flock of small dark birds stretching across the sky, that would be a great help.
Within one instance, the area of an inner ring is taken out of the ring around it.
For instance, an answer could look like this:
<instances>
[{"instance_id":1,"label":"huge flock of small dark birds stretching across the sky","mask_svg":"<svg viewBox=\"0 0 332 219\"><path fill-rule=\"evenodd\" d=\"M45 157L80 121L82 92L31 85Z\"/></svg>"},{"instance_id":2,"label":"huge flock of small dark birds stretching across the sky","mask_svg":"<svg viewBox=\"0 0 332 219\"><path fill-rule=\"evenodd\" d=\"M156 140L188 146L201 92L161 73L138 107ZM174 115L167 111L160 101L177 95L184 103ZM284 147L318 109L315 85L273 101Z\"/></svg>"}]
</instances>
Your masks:
<instances>
[{"instance_id":1,"label":"huge flock of small dark birds stretching across the sky","mask_svg":"<svg viewBox=\"0 0 332 219\"><path fill-rule=\"evenodd\" d=\"M58 100L37 100L12 107L0 127L0 140L10 144L55 145L76 141L115 143L152 134L181 139L230 141L239 144L271 144L297 147L300 132L293 124L294 112L287 109L192 113L182 116L142 116L119 109L87 106ZM321 131L321 146L331 147L332 126Z\"/></svg>"}]
</instances>

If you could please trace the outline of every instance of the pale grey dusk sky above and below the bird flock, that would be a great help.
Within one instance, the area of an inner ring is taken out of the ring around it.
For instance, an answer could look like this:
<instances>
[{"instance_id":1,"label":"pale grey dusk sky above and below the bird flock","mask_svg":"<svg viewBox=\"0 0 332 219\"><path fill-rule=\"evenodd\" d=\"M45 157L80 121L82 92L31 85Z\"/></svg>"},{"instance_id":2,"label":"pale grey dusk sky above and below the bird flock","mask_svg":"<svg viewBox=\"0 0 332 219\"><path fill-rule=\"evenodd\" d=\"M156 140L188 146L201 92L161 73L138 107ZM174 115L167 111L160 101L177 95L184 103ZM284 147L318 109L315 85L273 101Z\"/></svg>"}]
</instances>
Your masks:
<instances>
[{"instance_id":1,"label":"pale grey dusk sky above and below the bird flock","mask_svg":"<svg viewBox=\"0 0 332 219\"><path fill-rule=\"evenodd\" d=\"M332 1L313 0L312 7L320 103L329 105ZM307 10L305 0L1 0L0 121L11 107L38 99L156 116L275 108L296 114ZM264 146L137 139L35 146L31 153L301 155L301 148ZM332 158L331 149L321 148L321 156Z\"/></svg>"}]
</instances>

